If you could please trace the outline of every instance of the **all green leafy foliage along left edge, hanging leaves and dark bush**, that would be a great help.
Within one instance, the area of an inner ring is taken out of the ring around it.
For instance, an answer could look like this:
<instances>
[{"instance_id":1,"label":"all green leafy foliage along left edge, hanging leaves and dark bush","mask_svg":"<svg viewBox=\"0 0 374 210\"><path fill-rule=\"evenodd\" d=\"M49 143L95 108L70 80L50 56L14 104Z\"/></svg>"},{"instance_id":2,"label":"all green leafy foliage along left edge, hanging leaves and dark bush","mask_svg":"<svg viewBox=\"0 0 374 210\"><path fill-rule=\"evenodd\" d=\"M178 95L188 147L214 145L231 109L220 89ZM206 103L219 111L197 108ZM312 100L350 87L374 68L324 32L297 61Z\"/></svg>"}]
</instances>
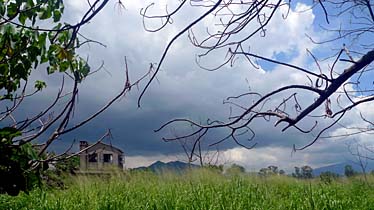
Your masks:
<instances>
[{"instance_id":1,"label":"all green leafy foliage along left edge, hanging leaves and dark bush","mask_svg":"<svg viewBox=\"0 0 374 210\"><path fill-rule=\"evenodd\" d=\"M63 12L62 0L0 0L0 100L17 100L21 84L43 63L48 74L69 72L76 82L89 74L87 62L75 52L80 46L76 37L80 25L62 23ZM34 88L40 91L46 85L37 80ZM12 111L2 112L2 120ZM41 171L47 168L47 163L38 163L39 151L30 141L15 140L24 132L16 125L0 127L0 193L11 195L40 184Z\"/></svg>"}]
</instances>

